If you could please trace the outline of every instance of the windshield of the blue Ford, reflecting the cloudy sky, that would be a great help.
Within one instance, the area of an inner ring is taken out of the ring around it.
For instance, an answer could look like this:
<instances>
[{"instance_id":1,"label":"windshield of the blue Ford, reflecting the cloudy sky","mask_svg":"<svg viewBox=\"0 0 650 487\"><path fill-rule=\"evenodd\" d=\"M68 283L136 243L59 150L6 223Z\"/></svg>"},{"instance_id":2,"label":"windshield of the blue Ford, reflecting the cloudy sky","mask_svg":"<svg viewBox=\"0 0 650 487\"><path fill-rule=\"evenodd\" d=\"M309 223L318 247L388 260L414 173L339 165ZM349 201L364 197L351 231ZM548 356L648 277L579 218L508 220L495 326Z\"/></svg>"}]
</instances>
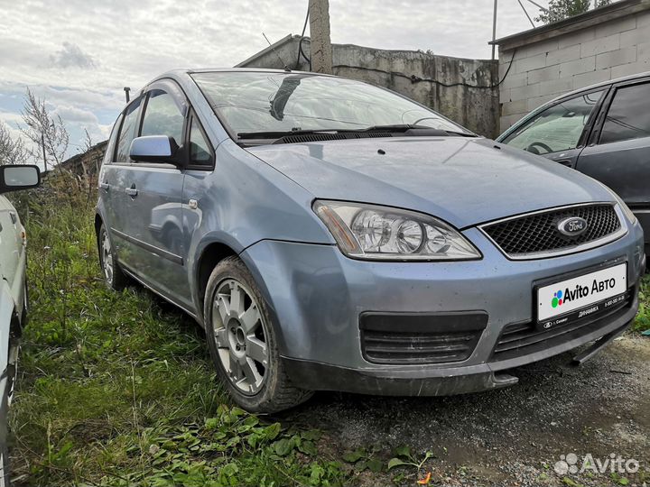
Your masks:
<instances>
[{"instance_id":1,"label":"windshield of the blue Ford, reflecting the cloudy sky","mask_svg":"<svg viewBox=\"0 0 650 487\"><path fill-rule=\"evenodd\" d=\"M237 138L242 134L367 130L386 125L471 134L424 106L351 79L254 71L195 73L192 78Z\"/></svg>"}]
</instances>

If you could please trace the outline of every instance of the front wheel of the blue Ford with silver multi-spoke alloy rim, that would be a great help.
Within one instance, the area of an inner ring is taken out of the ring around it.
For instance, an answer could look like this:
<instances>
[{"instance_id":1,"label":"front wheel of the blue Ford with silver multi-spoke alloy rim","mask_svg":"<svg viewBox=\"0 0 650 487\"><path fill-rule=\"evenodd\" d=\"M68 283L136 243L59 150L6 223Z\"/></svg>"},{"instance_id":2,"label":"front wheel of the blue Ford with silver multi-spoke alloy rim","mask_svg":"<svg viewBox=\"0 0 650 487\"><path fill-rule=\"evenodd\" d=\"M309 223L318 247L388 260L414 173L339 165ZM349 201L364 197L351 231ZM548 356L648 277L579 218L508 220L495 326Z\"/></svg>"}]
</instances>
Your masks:
<instances>
[{"instance_id":1,"label":"front wheel of the blue Ford with silver multi-spoke alloy rim","mask_svg":"<svg viewBox=\"0 0 650 487\"><path fill-rule=\"evenodd\" d=\"M312 391L295 387L287 376L265 299L237 257L212 271L203 316L212 361L237 405L272 413L311 398Z\"/></svg>"}]
</instances>

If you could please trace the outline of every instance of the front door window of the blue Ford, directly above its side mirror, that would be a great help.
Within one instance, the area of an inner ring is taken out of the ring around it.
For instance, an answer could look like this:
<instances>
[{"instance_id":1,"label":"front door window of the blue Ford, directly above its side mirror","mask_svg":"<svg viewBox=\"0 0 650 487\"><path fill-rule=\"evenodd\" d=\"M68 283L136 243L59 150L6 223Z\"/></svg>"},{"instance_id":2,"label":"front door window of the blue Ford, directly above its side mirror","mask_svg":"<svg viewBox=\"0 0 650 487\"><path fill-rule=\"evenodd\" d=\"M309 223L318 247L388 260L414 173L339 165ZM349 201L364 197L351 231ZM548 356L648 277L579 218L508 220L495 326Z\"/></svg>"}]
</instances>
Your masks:
<instances>
[{"instance_id":1,"label":"front door window of the blue Ford, directly above its side mirror","mask_svg":"<svg viewBox=\"0 0 650 487\"><path fill-rule=\"evenodd\" d=\"M181 145L184 119L172 95L162 89L153 89L144 109L140 135L167 135Z\"/></svg>"}]
</instances>

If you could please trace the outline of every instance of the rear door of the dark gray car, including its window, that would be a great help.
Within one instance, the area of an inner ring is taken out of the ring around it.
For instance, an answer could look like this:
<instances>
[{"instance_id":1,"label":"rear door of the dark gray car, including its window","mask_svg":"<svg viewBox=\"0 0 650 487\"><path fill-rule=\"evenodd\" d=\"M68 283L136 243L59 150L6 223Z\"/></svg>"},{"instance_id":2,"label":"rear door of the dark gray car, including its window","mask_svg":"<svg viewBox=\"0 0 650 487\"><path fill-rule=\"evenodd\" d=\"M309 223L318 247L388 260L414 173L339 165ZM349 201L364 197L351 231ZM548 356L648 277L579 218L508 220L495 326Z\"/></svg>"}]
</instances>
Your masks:
<instances>
[{"instance_id":1,"label":"rear door of the dark gray car, including its window","mask_svg":"<svg viewBox=\"0 0 650 487\"><path fill-rule=\"evenodd\" d=\"M577 169L605 183L634 211L650 241L650 79L618 83Z\"/></svg>"}]
</instances>

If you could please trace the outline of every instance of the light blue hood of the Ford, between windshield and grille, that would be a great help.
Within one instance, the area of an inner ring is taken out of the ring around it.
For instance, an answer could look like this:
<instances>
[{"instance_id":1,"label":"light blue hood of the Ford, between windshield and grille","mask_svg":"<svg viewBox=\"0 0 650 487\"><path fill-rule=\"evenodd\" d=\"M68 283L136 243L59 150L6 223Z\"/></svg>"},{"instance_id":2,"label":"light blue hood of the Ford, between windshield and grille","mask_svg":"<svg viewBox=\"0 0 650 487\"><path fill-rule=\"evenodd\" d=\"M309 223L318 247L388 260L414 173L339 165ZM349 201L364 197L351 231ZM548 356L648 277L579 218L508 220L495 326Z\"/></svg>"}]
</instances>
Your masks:
<instances>
[{"instance_id":1,"label":"light blue hood of the Ford, between windshield and grille","mask_svg":"<svg viewBox=\"0 0 650 487\"><path fill-rule=\"evenodd\" d=\"M400 137L246 148L315 198L402 207L458 228L590 201L599 183L483 138Z\"/></svg>"}]
</instances>

